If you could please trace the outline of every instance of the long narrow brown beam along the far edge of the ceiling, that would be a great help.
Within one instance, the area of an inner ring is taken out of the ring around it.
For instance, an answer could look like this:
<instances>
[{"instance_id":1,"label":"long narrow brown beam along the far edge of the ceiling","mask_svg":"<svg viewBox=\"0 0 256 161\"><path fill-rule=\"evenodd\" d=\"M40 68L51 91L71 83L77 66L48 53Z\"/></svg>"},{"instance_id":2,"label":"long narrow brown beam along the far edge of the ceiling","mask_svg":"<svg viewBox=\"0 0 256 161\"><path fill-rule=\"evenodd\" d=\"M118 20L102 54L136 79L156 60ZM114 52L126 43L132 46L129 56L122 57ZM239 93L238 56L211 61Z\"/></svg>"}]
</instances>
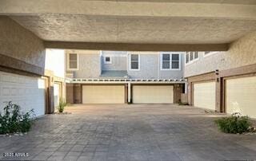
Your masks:
<instances>
[{"instance_id":1,"label":"long narrow brown beam along the far edge of the ceiling","mask_svg":"<svg viewBox=\"0 0 256 161\"><path fill-rule=\"evenodd\" d=\"M50 49L101 49L117 51L226 51L229 44L132 44L132 43L100 43L44 41Z\"/></svg>"}]
</instances>

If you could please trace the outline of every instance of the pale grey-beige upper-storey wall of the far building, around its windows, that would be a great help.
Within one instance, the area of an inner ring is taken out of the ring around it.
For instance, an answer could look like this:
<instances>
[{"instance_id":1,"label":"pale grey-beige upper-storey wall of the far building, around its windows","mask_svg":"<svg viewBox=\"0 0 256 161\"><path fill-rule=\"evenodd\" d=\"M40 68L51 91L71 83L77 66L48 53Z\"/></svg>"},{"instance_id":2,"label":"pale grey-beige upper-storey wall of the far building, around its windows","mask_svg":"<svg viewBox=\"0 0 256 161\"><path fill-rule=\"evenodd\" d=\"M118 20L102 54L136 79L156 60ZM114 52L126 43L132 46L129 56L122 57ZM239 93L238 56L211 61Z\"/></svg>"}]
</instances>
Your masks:
<instances>
[{"instance_id":1,"label":"pale grey-beige upper-storey wall of the far building, around its windows","mask_svg":"<svg viewBox=\"0 0 256 161\"><path fill-rule=\"evenodd\" d=\"M90 50L66 50L67 53L78 53L78 70L68 70L74 78L98 78L102 70L124 70L130 78L134 79L181 79L183 78L184 55L181 54L180 70L161 70L160 69L160 53L159 52L128 52L140 54L140 69L130 70L130 57L127 52L118 51L102 51ZM104 57L111 57L111 64L104 64ZM67 60L68 61L68 60ZM67 63L66 63L67 66Z\"/></svg>"}]
</instances>

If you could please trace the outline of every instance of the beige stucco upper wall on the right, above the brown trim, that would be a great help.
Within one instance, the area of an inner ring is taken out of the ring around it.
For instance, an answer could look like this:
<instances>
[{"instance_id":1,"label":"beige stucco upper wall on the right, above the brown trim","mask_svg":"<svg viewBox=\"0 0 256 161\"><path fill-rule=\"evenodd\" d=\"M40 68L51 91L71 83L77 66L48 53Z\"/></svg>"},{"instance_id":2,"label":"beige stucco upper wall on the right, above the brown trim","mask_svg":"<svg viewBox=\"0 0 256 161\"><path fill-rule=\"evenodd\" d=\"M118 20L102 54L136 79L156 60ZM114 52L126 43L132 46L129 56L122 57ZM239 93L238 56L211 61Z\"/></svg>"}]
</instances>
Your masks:
<instances>
[{"instance_id":1,"label":"beige stucco upper wall on the right, above the brown trim","mask_svg":"<svg viewBox=\"0 0 256 161\"><path fill-rule=\"evenodd\" d=\"M185 65L185 77L218 70L233 69L256 63L256 32L234 41L227 52L214 53L208 57L199 55L199 60Z\"/></svg>"}]
</instances>

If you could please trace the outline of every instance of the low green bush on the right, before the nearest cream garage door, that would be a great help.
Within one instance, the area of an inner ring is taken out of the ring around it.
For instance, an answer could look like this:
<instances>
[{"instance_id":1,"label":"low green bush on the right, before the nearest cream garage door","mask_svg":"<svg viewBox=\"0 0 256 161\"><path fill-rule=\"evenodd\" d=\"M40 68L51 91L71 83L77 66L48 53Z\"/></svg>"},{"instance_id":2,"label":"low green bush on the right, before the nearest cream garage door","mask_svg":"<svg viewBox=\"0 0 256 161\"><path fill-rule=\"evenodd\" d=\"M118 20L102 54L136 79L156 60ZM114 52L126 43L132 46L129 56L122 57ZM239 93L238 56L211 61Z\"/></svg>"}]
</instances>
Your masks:
<instances>
[{"instance_id":1,"label":"low green bush on the right, before the nearest cream garage door","mask_svg":"<svg viewBox=\"0 0 256 161\"><path fill-rule=\"evenodd\" d=\"M215 120L215 123L225 133L242 134L243 132L250 132L250 120L247 116L241 116L238 113L234 113L230 117Z\"/></svg>"}]
</instances>

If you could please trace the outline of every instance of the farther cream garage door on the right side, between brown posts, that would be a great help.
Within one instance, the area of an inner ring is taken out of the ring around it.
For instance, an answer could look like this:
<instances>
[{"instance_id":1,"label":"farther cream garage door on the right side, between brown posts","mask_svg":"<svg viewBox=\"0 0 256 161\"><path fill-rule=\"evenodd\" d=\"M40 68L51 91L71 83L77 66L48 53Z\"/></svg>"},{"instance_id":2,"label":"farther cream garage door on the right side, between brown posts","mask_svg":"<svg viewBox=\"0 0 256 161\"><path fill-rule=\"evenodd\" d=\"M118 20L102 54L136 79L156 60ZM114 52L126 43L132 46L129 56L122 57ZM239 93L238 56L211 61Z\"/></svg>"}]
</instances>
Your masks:
<instances>
[{"instance_id":1,"label":"farther cream garage door on the right side, between brown posts","mask_svg":"<svg viewBox=\"0 0 256 161\"><path fill-rule=\"evenodd\" d=\"M215 82L194 84L194 106L215 110Z\"/></svg>"}]
</instances>

